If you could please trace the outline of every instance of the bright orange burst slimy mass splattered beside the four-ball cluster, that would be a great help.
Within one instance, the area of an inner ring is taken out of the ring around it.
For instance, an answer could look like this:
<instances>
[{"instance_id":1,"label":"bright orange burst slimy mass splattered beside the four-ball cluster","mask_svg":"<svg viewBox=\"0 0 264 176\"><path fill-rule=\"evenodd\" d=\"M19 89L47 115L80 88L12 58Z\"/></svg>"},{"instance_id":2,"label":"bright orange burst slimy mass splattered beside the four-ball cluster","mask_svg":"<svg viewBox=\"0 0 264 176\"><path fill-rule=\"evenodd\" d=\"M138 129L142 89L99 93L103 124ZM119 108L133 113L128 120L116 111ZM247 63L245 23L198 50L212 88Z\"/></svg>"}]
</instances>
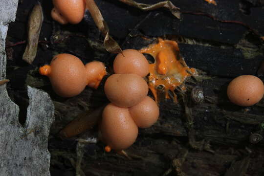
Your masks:
<instances>
[{"instance_id":1,"label":"bright orange burst slimy mass splattered beside the four-ball cluster","mask_svg":"<svg viewBox=\"0 0 264 176\"><path fill-rule=\"evenodd\" d=\"M169 97L169 90L174 92L175 88L191 76L197 74L194 68L189 68L183 58L179 55L178 44L175 41L159 39L157 44L151 44L140 50L141 53L150 54L155 62L150 64L149 88L157 101L157 90L162 85L166 98ZM176 95L174 95L176 100Z\"/></svg>"}]
</instances>

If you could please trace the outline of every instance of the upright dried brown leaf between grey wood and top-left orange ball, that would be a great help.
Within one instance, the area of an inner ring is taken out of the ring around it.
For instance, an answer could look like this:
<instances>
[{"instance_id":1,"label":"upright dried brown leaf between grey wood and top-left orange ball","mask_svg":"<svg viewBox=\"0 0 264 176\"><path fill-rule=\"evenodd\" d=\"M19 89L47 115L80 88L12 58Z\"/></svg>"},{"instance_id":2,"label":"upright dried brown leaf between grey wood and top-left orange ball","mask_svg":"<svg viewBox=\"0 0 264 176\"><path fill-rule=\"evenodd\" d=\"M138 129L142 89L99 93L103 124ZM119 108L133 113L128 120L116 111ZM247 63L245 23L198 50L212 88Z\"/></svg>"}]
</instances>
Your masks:
<instances>
[{"instance_id":1,"label":"upright dried brown leaf between grey wood and top-left orange ball","mask_svg":"<svg viewBox=\"0 0 264 176\"><path fill-rule=\"evenodd\" d=\"M32 64L37 55L43 19L42 6L38 3L34 6L28 20L28 42L22 58L28 64Z\"/></svg>"}]
</instances>

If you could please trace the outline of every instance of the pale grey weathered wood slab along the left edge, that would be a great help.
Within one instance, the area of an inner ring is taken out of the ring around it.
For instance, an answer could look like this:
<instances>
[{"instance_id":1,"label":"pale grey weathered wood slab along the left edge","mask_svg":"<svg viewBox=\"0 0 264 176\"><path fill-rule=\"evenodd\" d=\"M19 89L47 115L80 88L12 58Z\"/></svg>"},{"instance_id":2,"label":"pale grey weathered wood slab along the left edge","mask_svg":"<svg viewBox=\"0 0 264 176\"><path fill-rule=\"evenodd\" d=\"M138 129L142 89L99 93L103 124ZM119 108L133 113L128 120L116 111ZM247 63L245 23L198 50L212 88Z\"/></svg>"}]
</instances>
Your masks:
<instances>
[{"instance_id":1,"label":"pale grey weathered wood slab along the left edge","mask_svg":"<svg viewBox=\"0 0 264 176\"><path fill-rule=\"evenodd\" d=\"M5 78L5 38L8 23L15 20L18 0L0 1L0 80ZM49 95L28 87L27 119L19 123L19 107L0 86L0 176L50 176L47 150L54 106Z\"/></svg>"}]
</instances>

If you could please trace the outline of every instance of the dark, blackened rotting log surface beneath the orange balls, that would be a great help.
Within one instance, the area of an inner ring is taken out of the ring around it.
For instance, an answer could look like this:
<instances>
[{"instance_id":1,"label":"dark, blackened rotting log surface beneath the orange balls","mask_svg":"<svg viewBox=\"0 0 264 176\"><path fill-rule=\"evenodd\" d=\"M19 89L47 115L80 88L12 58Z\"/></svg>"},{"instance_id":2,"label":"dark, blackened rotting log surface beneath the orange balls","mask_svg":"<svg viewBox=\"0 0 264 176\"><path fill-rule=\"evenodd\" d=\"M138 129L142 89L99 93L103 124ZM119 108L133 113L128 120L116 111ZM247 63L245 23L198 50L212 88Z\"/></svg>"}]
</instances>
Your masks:
<instances>
[{"instance_id":1,"label":"dark, blackened rotting log surface beneath the orange balls","mask_svg":"<svg viewBox=\"0 0 264 176\"><path fill-rule=\"evenodd\" d=\"M187 97L195 85L203 88L205 102L202 104L186 109L183 99L179 99L177 105L171 100L160 102L158 122L140 130L136 142L126 150L132 160L114 152L105 153L105 145L95 139L96 127L77 137L58 138L58 132L68 122L84 111L99 107L107 99L102 85L98 90L86 88L73 98L60 98L52 91L48 79L38 74L38 66L49 63L57 53L67 52L85 63L103 61L111 72L113 55L104 50L103 37L91 17L86 16L78 25L61 26L50 19L50 2L41 2L44 23L37 57L33 65L28 66L21 61L24 44L6 48L14 50L7 63L7 79L10 79L7 88L17 104L27 102L26 85L42 88L50 94L56 117L48 145L51 175L74 176L75 172L81 176L264 174L264 141L257 144L249 141L252 133L263 135L264 101L241 108L232 105L225 93L233 77L256 74L264 59L260 39L264 36L264 22L260 18L264 14L262 0L221 0L216 6L204 0L172 0L182 12L181 20L166 10L142 12L121 2L95 0L109 25L110 35L122 49L140 49L153 43L156 37L173 39L178 42L186 63L202 70L204 75L201 75L209 78L186 82ZM34 0L21 1L17 21L10 25L8 42L16 44L25 40L27 15L33 5ZM17 33L16 28L22 29L21 33ZM19 81L12 81L14 78ZM191 111L192 117L188 119L192 121L186 120L186 111ZM243 170L240 170L241 165Z\"/></svg>"}]
</instances>

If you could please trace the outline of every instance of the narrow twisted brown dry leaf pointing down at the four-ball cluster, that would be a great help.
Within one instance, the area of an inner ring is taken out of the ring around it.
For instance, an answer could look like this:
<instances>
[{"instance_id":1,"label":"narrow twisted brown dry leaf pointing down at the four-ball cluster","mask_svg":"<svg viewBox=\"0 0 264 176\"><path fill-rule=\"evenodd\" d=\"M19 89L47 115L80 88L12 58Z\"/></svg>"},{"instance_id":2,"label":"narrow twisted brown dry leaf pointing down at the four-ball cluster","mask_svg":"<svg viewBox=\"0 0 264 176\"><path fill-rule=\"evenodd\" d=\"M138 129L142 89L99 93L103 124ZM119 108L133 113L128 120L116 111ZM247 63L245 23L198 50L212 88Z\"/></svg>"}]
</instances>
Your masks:
<instances>
[{"instance_id":1,"label":"narrow twisted brown dry leaf pointing down at the four-ball cluster","mask_svg":"<svg viewBox=\"0 0 264 176\"><path fill-rule=\"evenodd\" d=\"M110 37L107 23L104 21L104 18L94 0L86 0L86 5L96 26L105 36L104 45L106 50L110 53L122 53L119 44Z\"/></svg>"}]
</instances>

